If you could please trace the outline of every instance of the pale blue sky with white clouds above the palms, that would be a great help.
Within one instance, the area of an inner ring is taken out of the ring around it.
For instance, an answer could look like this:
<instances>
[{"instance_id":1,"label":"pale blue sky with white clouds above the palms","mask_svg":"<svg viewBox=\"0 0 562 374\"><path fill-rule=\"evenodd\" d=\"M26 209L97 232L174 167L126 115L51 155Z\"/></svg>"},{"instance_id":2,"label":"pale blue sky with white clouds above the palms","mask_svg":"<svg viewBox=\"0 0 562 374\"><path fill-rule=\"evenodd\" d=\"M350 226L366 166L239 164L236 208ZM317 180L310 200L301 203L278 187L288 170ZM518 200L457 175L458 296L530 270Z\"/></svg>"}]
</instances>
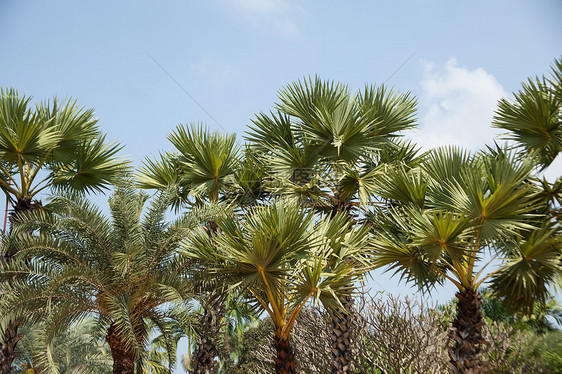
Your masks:
<instances>
[{"instance_id":1,"label":"pale blue sky with white clouds above the palms","mask_svg":"<svg viewBox=\"0 0 562 374\"><path fill-rule=\"evenodd\" d=\"M241 140L280 88L316 74L411 91L420 127L408 137L476 150L496 133L497 100L562 54L560 15L559 0L0 0L0 86L95 108L135 165L170 149L179 123Z\"/></svg>"}]
</instances>

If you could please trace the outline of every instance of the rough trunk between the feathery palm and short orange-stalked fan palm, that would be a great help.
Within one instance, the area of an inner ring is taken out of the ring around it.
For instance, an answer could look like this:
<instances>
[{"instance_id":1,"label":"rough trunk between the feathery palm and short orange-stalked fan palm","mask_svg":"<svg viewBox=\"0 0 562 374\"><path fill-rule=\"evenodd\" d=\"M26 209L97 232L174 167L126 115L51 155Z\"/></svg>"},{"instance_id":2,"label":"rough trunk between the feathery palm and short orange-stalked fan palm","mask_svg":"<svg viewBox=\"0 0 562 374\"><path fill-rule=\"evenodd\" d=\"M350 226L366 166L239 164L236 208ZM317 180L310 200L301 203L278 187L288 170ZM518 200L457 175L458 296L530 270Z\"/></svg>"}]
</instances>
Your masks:
<instances>
[{"instance_id":1,"label":"rough trunk between the feathery palm and short orange-stalked fan palm","mask_svg":"<svg viewBox=\"0 0 562 374\"><path fill-rule=\"evenodd\" d=\"M197 352L193 362L193 374L214 374L219 365L215 358L219 355L216 342L220 336L224 325L222 322L225 316L224 299L222 297L213 298L212 301L203 305L201 333L197 341Z\"/></svg>"}]
</instances>

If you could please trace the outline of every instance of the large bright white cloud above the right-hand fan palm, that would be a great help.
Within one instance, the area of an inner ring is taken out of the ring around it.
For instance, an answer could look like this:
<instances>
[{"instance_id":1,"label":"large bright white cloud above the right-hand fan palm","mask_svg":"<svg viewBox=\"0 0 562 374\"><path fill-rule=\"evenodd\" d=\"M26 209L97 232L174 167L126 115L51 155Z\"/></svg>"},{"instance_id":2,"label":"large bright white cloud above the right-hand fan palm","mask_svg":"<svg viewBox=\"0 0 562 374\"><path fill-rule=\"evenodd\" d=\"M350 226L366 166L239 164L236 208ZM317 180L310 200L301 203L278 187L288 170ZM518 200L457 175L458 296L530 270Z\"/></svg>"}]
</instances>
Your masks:
<instances>
[{"instance_id":1,"label":"large bright white cloud above the right-hand fan palm","mask_svg":"<svg viewBox=\"0 0 562 374\"><path fill-rule=\"evenodd\" d=\"M438 69L425 64L421 82L420 129L412 138L424 150L458 145L471 150L492 144L498 130L491 122L503 87L484 69L469 70L449 59Z\"/></svg>"}]
</instances>

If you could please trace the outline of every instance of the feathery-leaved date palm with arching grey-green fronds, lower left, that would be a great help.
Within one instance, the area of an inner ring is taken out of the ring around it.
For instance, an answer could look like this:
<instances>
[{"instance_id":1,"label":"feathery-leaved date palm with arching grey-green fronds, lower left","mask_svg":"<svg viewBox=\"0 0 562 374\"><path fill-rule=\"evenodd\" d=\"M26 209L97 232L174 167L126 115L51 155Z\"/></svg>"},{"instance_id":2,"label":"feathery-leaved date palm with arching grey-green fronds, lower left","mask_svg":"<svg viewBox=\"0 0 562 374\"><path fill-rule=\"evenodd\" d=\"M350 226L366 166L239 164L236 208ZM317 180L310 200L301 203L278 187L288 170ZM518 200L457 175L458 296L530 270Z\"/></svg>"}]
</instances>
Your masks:
<instances>
[{"instance_id":1,"label":"feathery-leaved date palm with arching grey-green fronds, lower left","mask_svg":"<svg viewBox=\"0 0 562 374\"><path fill-rule=\"evenodd\" d=\"M165 195L141 217L146 200L121 187L109 200L111 220L80 197L62 196L49 204L52 215L18 217L17 230L39 229L40 235L22 235L20 251L2 265L2 277L13 282L4 283L0 323L14 314L47 316L41 364L50 372L58 372L52 360L56 333L94 315L105 329L113 373L134 373L151 334L147 321L168 334L164 304L191 296L182 275L188 260L177 253L189 221L165 222Z\"/></svg>"}]
</instances>

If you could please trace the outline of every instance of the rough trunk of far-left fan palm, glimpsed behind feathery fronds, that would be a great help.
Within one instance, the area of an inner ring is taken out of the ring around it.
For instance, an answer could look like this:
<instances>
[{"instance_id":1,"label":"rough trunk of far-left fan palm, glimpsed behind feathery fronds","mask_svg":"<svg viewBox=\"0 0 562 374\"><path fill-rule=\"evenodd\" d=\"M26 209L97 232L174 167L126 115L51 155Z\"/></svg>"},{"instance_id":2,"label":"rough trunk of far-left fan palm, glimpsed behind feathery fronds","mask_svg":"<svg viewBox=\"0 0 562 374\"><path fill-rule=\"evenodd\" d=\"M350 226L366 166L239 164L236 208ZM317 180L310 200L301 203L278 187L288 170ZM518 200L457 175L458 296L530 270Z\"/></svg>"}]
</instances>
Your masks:
<instances>
[{"instance_id":1,"label":"rough trunk of far-left fan palm, glimpsed behind feathery fronds","mask_svg":"<svg viewBox=\"0 0 562 374\"><path fill-rule=\"evenodd\" d=\"M11 213L10 221L13 224L13 219L16 215L40 206L40 202L32 201L28 196L18 199L16 204L13 206L14 211ZM8 249L3 256L2 261L10 261L14 254L15 253L13 251ZM20 321L14 321L6 327L5 331L0 331L0 336L2 338L2 346L0 347L0 374L12 373L12 363L16 357L16 346L23 337L23 335L18 334L19 325Z\"/></svg>"}]
</instances>

